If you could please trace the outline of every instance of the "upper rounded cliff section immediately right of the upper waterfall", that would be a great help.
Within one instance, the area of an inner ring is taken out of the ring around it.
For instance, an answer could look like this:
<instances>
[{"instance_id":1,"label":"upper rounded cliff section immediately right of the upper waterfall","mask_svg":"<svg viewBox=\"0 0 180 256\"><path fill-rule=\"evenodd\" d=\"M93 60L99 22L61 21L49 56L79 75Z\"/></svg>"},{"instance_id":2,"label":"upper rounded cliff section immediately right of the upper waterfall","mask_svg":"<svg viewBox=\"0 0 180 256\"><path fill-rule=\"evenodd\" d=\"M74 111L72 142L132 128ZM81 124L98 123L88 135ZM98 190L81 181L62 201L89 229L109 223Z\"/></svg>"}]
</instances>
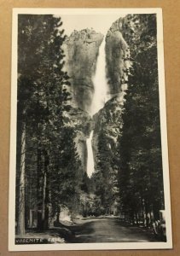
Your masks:
<instances>
[{"instance_id":1,"label":"upper rounded cliff section immediately right of the upper waterfall","mask_svg":"<svg viewBox=\"0 0 180 256\"><path fill-rule=\"evenodd\" d=\"M116 20L106 36L107 79L110 94L116 96L126 89L130 63L130 49L125 42L122 24L125 20Z\"/></svg>"}]
</instances>

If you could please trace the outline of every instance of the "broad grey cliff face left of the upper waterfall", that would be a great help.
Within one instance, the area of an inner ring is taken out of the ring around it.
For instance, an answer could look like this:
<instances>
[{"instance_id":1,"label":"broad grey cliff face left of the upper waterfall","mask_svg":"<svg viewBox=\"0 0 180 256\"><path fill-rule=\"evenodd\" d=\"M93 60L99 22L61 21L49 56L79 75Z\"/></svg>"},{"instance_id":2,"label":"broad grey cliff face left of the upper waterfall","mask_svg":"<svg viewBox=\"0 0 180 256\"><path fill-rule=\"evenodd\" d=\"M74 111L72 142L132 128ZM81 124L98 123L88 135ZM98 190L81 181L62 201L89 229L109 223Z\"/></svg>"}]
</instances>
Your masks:
<instances>
[{"instance_id":1,"label":"broad grey cliff face left of the upper waterfall","mask_svg":"<svg viewBox=\"0 0 180 256\"><path fill-rule=\"evenodd\" d=\"M89 111L94 87L92 77L103 35L94 30L74 31L63 44L65 70L72 84L73 105Z\"/></svg>"}]
</instances>

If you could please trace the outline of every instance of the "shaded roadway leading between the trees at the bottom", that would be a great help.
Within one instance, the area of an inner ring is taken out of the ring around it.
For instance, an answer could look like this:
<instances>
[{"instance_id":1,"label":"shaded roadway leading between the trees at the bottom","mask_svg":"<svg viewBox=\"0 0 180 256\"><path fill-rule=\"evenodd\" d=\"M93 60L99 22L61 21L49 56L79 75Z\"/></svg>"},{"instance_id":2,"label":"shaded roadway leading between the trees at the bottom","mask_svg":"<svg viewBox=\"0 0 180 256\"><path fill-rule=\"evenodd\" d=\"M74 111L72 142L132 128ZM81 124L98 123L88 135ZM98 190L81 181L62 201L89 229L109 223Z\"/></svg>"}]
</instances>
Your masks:
<instances>
[{"instance_id":1,"label":"shaded roadway leading between the trees at the bottom","mask_svg":"<svg viewBox=\"0 0 180 256\"><path fill-rule=\"evenodd\" d=\"M123 224L119 218L84 218L71 227L73 239L69 242L148 242L157 241L150 230ZM68 242L68 241L67 241Z\"/></svg>"}]
</instances>

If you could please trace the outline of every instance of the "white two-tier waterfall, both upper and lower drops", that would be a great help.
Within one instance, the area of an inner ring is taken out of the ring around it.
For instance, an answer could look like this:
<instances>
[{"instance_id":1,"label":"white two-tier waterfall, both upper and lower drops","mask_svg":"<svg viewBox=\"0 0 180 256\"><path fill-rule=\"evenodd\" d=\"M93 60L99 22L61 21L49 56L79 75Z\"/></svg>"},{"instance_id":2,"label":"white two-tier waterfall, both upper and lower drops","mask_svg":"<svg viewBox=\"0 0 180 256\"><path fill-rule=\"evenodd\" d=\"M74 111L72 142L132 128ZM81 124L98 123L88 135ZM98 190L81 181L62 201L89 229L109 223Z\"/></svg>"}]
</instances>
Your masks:
<instances>
[{"instance_id":1,"label":"white two-tier waterfall, both upper and lower drops","mask_svg":"<svg viewBox=\"0 0 180 256\"><path fill-rule=\"evenodd\" d=\"M105 38L99 48L99 55L96 62L96 73L93 80L94 95L91 102L90 114L91 116L97 113L107 102L108 84L106 79L106 52L105 52ZM87 174L90 177L95 171L94 156L92 150L93 132L90 132L90 137L86 141L87 145Z\"/></svg>"}]
</instances>

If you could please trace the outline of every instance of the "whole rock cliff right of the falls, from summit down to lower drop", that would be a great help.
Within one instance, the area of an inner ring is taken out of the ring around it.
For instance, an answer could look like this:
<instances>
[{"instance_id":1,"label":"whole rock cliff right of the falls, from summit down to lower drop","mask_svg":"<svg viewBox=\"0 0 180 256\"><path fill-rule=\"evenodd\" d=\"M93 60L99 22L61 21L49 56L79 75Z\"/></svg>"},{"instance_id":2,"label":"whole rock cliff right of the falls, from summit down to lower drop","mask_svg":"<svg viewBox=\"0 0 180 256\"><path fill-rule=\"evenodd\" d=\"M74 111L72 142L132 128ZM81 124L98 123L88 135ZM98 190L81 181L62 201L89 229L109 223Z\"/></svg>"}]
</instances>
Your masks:
<instances>
[{"instance_id":1,"label":"whole rock cliff right of the falls, from summit down to lower drop","mask_svg":"<svg viewBox=\"0 0 180 256\"><path fill-rule=\"evenodd\" d=\"M116 20L106 35L107 81L110 100L94 115L95 130L93 136L93 151L96 166L99 135L106 137L107 147L114 152L117 139L122 128L122 109L129 68L131 67L130 49L125 41L126 18Z\"/></svg>"}]
</instances>

